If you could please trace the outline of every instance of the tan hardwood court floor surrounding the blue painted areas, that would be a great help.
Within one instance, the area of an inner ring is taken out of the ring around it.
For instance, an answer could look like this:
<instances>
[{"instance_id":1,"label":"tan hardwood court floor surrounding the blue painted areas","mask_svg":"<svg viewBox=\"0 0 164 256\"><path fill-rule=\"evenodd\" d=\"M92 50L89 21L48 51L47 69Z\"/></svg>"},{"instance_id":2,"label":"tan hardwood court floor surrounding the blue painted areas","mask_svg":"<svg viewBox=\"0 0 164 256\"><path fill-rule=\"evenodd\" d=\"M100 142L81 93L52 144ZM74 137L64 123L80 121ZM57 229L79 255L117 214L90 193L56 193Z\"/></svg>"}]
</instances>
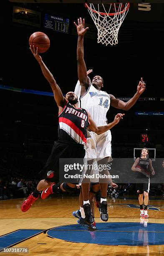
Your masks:
<instances>
[{"instance_id":1,"label":"tan hardwood court floor surrounding the blue painted areas","mask_svg":"<svg viewBox=\"0 0 164 256\"><path fill-rule=\"evenodd\" d=\"M78 197L49 197L38 199L27 212L21 212L22 199L0 201L0 236L19 229L43 229L77 224L73 210L78 209ZM109 223L140 223L139 209L135 208L138 200L108 199ZM164 200L151 200L149 223L164 223ZM96 223L102 223L98 209L95 207ZM149 225L148 223L148 225ZM164 231L164 230L163 230ZM89 232L89 231L86 231ZM152 232L152 231L151 231ZM163 232L162 232L163 233ZM73 243L57 238L50 238L46 233L29 238L14 247L29 248L26 255L164 255L164 245L151 246L106 246L93 243ZM1 252L1 255L7 255ZM15 255L10 253L8 255ZM17 253L17 255L25 255Z\"/></svg>"}]
</instances>

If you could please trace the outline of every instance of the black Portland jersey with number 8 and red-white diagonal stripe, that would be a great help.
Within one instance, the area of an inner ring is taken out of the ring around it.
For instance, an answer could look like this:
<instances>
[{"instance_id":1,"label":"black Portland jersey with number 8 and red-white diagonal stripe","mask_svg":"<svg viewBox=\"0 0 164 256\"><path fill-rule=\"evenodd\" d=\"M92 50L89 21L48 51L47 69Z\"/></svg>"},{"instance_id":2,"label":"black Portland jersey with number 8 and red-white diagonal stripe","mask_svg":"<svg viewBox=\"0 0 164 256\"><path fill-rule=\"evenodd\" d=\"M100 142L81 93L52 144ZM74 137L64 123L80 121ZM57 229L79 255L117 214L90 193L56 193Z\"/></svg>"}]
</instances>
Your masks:
<instances>
[{"instance_id":1,"label":"black Portland jersey with number 8 and red-white diagonal stripe","mask_svg":"<svg viewBox=\"0 0 164 256\"><path fill-rule=\"evenodd\" d=\"M69 102L59 114L59 141L86 144L87 128L90 125L88 113L83 108L75 108Z\"/></svg>"}]
</instances>

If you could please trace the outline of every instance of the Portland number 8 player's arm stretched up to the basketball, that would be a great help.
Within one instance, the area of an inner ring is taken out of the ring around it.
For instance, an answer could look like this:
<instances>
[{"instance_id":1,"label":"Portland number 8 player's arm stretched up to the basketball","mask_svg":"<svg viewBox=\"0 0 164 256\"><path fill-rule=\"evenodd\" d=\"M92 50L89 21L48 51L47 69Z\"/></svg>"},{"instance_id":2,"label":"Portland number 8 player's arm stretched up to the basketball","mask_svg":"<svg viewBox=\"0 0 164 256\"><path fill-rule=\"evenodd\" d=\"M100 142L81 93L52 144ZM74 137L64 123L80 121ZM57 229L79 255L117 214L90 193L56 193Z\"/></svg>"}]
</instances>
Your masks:
<instances>
[{"instance_id":1,"label":"Portland number 8 player's arm stretched up to the basketball","mask_svg":"<svg viewBox=\"0 0 164 256\"><path fill-rule=\"evenodd\" d=\"M38 54L38 47L35 48L35 46L30 45L30 50L33 53L33 56L35 57L35 59L40 64L42 73L43 73L45 79L47 79L47 81L49 82L49 84L53 90L54 99L55 99L58 107L63 108L66 105L67 100L65 97L63 97L63 93L61 92L60 87L56 83L56 80L54 79L53 74L51 74L50 70L45 66L41 56Z\"/></svg>"}]
</instances>

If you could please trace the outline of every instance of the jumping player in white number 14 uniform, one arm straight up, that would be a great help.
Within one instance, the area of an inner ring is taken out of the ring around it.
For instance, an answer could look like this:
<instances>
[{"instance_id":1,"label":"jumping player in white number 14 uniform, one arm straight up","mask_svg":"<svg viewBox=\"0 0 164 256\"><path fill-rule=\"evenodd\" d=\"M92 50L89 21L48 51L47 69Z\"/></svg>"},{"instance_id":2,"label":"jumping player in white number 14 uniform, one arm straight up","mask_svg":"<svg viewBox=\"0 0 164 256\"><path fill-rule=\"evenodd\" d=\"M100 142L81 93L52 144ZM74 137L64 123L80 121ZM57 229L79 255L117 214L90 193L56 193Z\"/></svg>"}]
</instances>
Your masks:
<instances>
[{"instance_id":1,"label":"jumping player in white number 14 uniform, one arm straight up","mask_svg":"<svg viewBox=\"0 0 164 256\"><path fill-rule=\"evenodd\" d=\"M78 19L78 25L74 22L78 33L78 45L77 45L77 61L78 61L78 79L81 85L81 107L85 106L86 110L91 114L96 125L105 125L107 122L106 113L109 110L109 106L119 108L122 110L129 110L138 100L141 93L145 90L145 83L139 82L137 92L128 102L123 102L114 97L114 95L108 94L102 91L103 78L99 75L93 77L92 82L87 77L86 64L84 61L84 48L83 39L88 28L84 28L85 20ZM79 86L80 86L79 85ZM87 159L97 159L99 164L107 164L108 159L111 158L111 132L96 136L93 132L88 132L87 140ZM101 159L101 160L100 160ZM107 174L107 168L106 173ZM107 212L107 186L108 181L99 179L101 187L101 220L108 220ZM105 183L104 183L105 182ZM83 204L87 204L89 201L89 184L82 183L83 192Z\"/></svg>"}]
</instances>

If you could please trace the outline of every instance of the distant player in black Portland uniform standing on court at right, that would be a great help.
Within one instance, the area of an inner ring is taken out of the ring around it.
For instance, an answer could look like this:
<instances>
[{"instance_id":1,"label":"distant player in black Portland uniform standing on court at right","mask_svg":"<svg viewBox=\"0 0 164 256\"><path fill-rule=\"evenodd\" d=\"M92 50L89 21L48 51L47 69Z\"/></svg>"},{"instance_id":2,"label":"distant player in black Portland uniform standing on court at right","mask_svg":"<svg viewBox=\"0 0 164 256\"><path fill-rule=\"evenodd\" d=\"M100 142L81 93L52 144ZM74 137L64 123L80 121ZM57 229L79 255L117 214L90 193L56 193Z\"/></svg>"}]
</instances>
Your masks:
<instances>
[{"instance_id":1,"label":"distant player in black Portland uniform standing on court at right","mask_svg":"<svg viewBox=\"0 0 164 256\"><path fill-rule=\"evenodd\" d=\"M134 162L131 170L139 172L138 178L144 177L145 183L137 184L137 192L139 193L139 205L141 217L148 218L147 205L149 202L149 188L150 188L150 176L154 175L154 168L151 163L151 159L147 158L149 151L147 148L141 150L141 157L138 157ZM143 196L144 196L144 209L143 209Z\"/></svg>"}]
</instances>

